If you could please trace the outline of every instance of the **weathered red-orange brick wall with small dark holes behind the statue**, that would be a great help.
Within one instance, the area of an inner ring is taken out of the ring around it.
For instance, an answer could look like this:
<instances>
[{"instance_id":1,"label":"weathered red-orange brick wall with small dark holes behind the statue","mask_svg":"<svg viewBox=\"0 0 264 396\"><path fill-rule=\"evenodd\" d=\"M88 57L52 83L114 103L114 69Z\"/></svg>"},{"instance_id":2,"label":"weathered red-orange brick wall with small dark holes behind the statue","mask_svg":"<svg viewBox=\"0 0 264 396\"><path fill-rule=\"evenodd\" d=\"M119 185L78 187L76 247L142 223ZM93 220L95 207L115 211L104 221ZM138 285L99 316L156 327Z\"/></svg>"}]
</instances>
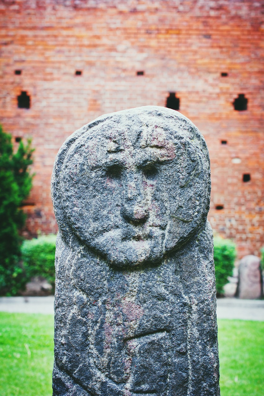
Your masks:
<instances>
[{"instance_id":1,"label":"weathered red-orange brick wall with small dark holes behind the statue","mask_svg":"<svg viewBox=\"0 0 264 396\"><path fill-rule=\"evenodd\" d=\"M264 245L262 6L252 0L2 0L0 121L14 138L31 137L36 148L25 235L57 231L50 177L73 131L103 113L166 106L176 92L180 112L209 147L213 229L235 240L239 257L258 255ZM21 91L30 96L30 109L17 107ZM234 110L239 94L248 99L247 110Z\"/></svg>"}]
</instances>

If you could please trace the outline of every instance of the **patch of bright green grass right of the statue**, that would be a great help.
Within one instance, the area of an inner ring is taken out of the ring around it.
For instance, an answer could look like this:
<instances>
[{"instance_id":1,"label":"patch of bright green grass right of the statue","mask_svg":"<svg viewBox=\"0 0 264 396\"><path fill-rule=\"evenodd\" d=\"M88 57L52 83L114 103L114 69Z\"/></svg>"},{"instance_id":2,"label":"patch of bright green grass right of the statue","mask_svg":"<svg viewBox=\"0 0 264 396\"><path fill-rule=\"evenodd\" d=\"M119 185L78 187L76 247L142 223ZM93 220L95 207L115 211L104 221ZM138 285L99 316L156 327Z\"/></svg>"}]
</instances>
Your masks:
<instances>
[{"instance_id":1,"label":"patch of bright green grass right of the statue","mask_svg":"<svg viewBox=\"0 0 264 396\"><path fill-rule=\"evenodd\" d=\"M221 396L261 396L264 322L218 320Z\"/></svg>"}]
</instances>

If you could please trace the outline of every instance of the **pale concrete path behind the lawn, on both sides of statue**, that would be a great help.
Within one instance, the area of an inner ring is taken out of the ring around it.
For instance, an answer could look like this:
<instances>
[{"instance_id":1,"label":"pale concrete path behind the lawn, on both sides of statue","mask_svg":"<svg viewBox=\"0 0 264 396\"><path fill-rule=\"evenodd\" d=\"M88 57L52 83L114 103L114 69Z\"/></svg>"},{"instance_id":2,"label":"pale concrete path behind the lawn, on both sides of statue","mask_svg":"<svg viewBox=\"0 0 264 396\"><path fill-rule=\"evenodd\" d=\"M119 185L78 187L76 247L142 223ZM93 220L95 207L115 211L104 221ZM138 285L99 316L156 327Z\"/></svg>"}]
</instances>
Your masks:
<instances>
[{"instance_id":1,"label":"pale concrete path behind the lawn, on both sides of statue","mask_svg":"<svg viewBox=\"0 0 264 396\"><path fill-rule=\"evenodd\" d=\"M0 297L0 311L29 314L54 314L54 297ZM217 300L218 319L264 321L264 300Z\"/></svg>"}]
</instances>

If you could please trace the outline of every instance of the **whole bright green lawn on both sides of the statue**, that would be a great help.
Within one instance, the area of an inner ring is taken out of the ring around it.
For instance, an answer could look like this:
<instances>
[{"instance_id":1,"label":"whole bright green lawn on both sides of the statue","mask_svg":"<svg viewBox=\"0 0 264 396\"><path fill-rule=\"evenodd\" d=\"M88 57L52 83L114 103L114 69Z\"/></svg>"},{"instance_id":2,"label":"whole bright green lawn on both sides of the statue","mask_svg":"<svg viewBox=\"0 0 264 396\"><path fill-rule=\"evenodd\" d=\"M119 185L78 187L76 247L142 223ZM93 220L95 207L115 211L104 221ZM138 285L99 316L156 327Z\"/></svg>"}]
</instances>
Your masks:
<instances>
[{"instance_id":1,"label":"whole bright green lawn on both sides of the statue","mask_svg":"<svg viewBox=\"0 0 264 396\"><path fill-rule=\"evenodd\" d=\"M264 322L218 320L221 396L262 396ZM51 396L53 317L0 312L0 395Z\"/></svg>"}]
</instances>

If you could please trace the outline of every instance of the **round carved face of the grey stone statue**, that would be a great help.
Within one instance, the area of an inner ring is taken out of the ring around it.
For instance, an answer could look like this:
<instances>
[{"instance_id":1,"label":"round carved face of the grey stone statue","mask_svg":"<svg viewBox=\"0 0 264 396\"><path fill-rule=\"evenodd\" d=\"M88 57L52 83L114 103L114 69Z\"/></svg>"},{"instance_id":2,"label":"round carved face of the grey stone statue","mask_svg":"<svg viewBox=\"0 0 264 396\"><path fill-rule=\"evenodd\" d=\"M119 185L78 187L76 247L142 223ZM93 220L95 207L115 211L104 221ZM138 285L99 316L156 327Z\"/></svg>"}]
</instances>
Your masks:
<instances>
[{"instance_id":1,"label":"round carved face of the grey stone statue","mask_svg":"<svg viewBox=\"0 0 264 396\"><path fill-rule=\"evenodd\" d=\"M112 115L71 145L61 168L71 229L117 267L158 263L208 211L209 172L195 134L173 119L146 120Z\"/></svg>"}]
</instances>

